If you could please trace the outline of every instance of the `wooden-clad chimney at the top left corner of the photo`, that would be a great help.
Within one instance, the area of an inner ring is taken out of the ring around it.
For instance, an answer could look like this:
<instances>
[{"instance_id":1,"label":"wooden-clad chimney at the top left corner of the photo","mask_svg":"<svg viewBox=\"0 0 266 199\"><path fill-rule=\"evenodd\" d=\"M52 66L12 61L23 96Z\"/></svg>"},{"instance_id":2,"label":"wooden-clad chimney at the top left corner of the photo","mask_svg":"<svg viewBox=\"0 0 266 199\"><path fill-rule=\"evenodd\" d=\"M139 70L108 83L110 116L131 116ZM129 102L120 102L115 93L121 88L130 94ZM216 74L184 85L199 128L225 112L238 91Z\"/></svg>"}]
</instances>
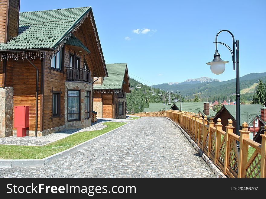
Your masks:
<instances>
[{"instance_id":1,"label":"wooden-clad chimney at the top left corner of the photo","mask_svg":"<svg viewBox=\"0 0 266 199\"><path fill-rule=\"evenodd\" d=\"M20 0L0 0L0 43L18 35Z\"/></svg>"}]
</instances>

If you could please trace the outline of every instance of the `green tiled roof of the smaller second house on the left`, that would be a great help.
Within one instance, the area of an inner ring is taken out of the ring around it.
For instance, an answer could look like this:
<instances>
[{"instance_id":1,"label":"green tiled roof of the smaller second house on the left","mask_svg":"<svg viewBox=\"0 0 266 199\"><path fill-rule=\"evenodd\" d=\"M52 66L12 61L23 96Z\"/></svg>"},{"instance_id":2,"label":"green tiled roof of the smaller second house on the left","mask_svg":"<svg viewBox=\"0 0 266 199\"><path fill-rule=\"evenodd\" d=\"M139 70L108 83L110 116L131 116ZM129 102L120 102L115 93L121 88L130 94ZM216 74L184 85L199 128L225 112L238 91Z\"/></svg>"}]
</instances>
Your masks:
<instances>
[{"instance_id":1,"label":"green tiled roof of the smaller second house on the left","mask_svg":"<svg viewBox=\"0 0 266 199\"><path fill-rule=\"evenodd\" d=\"M121 89L126 67L126 63L106 64L108 77L103 79L102 85L93 85L93 89Z\"/></svg>"}]
</instances>

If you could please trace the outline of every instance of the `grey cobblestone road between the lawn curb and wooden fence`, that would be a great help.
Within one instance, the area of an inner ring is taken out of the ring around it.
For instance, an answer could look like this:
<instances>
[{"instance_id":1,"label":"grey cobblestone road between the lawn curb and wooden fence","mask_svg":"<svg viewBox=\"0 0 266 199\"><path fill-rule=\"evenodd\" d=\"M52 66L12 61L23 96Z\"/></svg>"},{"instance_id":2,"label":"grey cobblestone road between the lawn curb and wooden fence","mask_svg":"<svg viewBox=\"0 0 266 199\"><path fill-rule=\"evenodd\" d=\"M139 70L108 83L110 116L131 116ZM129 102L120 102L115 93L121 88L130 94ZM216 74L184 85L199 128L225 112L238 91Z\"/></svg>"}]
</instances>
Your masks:
<instances>
[{"instance_id":1,"label":"grey cobblestone road between the lawn curb and wooden fence","mask_svg":"<svg viewBox=\"0 0 266 199\"><path fill-rule=\"evenodd\" d=\"M144 117L46 167L0 168L0 177L216 177L166 118Z\"/></svg>"}]
</instances>

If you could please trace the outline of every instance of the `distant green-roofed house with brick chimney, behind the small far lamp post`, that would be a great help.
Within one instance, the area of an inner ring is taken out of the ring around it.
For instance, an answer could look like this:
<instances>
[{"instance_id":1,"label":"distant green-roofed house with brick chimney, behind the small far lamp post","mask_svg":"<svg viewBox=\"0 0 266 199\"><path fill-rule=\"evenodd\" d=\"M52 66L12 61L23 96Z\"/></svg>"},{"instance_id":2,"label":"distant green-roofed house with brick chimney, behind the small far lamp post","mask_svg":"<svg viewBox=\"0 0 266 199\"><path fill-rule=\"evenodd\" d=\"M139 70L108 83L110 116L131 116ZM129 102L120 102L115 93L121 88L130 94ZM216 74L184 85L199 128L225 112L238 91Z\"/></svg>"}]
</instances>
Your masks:
<instances>
[{"instance_id":1,"label":"distant green-roofed house with brick chimney, behind the small far lamp post","mask_svg":"<svg viewBox=\"0 0 266 199\"><path fill-rule=\"evenodd\" d=\"M174 102L172 110L180 110L180 102ZM182 111L194 112L195 114L206 115L207 118L214 116L216 113L209 108L209 102L182 102Z\"/></svg>"}]
</instances>

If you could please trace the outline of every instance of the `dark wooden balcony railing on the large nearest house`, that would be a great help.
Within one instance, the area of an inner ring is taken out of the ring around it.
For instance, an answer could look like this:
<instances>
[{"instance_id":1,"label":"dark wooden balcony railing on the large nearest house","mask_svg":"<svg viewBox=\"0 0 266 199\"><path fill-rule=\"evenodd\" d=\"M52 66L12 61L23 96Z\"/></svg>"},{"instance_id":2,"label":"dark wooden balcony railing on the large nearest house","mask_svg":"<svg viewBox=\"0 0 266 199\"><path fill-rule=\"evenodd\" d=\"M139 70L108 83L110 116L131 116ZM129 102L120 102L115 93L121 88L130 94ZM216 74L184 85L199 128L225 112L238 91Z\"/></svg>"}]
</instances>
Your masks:
<instances>
[{"instance_id":1,"label":"dark wooden balcony railing on the large nearest house","mask_svg":"<svg viewBox=\"0 0 266 199\"><path fill-rule=\"evenodd\" d=\"M66 80L91 82L90 71L84 68L66 68Z\"/></svg>"}]
</instances>

